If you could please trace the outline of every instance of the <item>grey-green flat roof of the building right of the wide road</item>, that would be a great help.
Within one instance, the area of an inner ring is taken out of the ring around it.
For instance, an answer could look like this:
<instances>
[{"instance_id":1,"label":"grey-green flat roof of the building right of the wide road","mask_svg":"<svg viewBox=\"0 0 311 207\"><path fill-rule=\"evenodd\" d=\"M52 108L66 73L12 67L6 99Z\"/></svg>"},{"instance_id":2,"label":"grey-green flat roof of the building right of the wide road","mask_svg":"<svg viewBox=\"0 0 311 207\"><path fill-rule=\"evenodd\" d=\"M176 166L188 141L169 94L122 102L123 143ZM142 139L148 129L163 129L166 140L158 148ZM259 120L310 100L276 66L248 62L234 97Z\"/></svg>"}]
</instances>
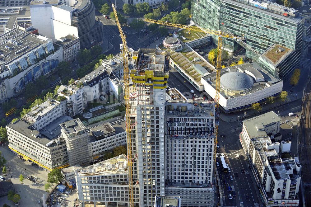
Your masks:
<instances>
[{"instance_id":1,"label":"grey-green flat roof of the building right of the wide road","mask_svg":"<svg viewBox=\"0 0 311 207\"><path fill-rule=\"evenodd\" d=\"M282 119L278 115L276 115L274 111L269 111L265 114L246 119L243 121L243 124L245 125L250 138L267 137L266 131L258 131L256 125L258 126L258 124L260 124L262 126L265 126L281 120Z\"/></svg>"}]
</instances>

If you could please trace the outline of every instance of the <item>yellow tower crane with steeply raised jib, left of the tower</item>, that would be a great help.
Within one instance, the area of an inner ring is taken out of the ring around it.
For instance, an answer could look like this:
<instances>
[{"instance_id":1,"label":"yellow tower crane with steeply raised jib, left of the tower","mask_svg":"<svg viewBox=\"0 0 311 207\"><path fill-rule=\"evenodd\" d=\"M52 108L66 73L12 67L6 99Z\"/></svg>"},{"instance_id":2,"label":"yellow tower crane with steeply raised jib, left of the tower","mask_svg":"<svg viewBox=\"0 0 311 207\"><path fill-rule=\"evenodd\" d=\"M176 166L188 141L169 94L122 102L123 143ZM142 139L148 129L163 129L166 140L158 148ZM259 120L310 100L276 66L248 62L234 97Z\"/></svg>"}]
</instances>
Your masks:
<instances>
[{"instance_id":1,"label":"yellow tower crane with steeply raised jib, left of the tower","mask_svg":"<svg viewBox=\"0 0 311 207\"><path fill-rule=\"evenodd\" d=\"M124 79L124 99L125 99L125 107L126 107L126 113L125 113L125 117L126 117L126 137L127 137L127 142L128 142L128 195L129 195L129 202L130 202L130 207L134 206L134 200L133 200L133 159L132 159L132 141L131 141L131 119L129 117L130 115L130 94L129 94L129 79L130 79L130 75L129 75L129 71L128 71L128 58L130 58L130 54L128 51L128 44L126 42L126 35L124 34L120 22L118 20L118 16L117 16L117 11L114 7L114 4L112 4L112 9L114 11L114 16L115 16L115 20L117 22L117 26L120 32L120 37L122 39L122 43L120 45L120 49L122 51L123 54L123 79Z\"/></svg>"}]
</instances>

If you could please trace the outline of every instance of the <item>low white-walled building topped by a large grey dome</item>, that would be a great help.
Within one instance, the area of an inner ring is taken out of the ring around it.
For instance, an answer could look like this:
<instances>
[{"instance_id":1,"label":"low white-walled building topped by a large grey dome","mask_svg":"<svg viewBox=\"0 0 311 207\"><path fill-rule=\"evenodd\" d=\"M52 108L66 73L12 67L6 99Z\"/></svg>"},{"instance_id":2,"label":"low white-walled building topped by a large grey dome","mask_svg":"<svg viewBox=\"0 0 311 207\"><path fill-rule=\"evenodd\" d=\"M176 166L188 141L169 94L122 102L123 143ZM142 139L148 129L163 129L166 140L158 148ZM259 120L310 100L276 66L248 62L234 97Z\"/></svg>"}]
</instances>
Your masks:
<instances>
[{"instance_id":1,"label":"low white-walled building topped by a large grey dome","mask_svg":"<svg viewBox=\"0 0 311 207\"><path fill-rule=\"evenodd\" d=\"M201 78L204 90L212 98L216 94L216 72ZM283 81L274 78L256 62L221 69L219 105L231 112L275 96L282 91Z\"/></svg>"}]
</instances>

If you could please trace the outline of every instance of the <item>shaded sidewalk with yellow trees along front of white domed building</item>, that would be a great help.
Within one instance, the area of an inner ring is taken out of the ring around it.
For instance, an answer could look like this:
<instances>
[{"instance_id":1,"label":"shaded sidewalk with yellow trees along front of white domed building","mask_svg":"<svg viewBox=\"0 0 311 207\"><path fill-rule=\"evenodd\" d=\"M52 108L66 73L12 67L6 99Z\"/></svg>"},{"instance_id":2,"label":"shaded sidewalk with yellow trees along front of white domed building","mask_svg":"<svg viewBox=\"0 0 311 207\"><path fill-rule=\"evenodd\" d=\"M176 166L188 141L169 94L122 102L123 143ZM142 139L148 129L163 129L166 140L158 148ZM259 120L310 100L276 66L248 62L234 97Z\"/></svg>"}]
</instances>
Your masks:
<instances>
[{"instance_id":1,"label":"shaded sidewalk with yellow trees along front of white domed building","mask_svg":"<svg viewBox=\"0 0 311 207\"><path fill-rule=\"evenodd\" d=\"M274 108L291 103L293 101L296 101L298 99L302 99L302 91L298 92L298 93L293 93L293 94L288 94L287 99L285 102L281 102L281 101L276 101L273 104L268 104L268 103L260 103L260 105L262 106L262 110L255 111L253 109L247 109L245 111L239 111L239 112L234 112L231 114L225 114L225 113L221 113L220 114L220 119L226 122L234 122L240 119L246 119L249 116L254 116L256 114L259 113L263 113L266 111L272 111ZM246 115L244 114L246 112Z\"/></svg>"}]
</instances>

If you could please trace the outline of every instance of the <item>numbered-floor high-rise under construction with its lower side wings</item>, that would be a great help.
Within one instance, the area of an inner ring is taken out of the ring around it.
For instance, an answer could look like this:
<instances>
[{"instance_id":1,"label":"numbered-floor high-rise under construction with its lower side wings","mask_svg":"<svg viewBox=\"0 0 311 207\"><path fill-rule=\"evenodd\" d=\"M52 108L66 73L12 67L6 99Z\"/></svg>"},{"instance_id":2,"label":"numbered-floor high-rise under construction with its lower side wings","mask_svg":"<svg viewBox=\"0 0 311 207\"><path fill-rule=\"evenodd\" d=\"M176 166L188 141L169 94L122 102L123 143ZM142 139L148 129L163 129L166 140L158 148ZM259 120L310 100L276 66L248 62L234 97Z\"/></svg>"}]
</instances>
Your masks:
<instances>
[{"instance_id":1,"label":"numbered-floor high-rise under construction with its lower side wings","mask_svg":"<svg viewBox=\"0 0 311 207\"><path fill-rule=\"evenodd\" d=\"M180 196L182 207L212 207L214 102L166 101L168 53L138 49L131 55L135 92L126 118L131 120L134 206L151 207L156 196L168 195ZM82 206L129 206L127 164L115 158L76 172ZM119 171L120 166L124 170Z\"/></svg>"}]
</instances>

